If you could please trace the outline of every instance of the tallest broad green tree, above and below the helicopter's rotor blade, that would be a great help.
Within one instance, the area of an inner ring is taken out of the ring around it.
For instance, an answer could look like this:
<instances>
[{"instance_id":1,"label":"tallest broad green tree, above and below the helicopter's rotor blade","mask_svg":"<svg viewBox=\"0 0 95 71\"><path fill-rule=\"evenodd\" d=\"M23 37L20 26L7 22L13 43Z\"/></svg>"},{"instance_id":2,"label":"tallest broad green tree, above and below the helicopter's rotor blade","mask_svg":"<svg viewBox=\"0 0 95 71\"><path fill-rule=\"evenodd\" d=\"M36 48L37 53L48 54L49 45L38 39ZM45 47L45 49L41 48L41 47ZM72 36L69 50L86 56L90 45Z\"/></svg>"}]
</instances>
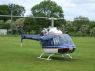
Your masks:
<instances>
[{"instance_id":1,"label":"tallest broad green tree, above and below the helicopter's rotor blade","mask_svg":"<svg viewBox=\"0 0 95 71\"><path fill-rule=\"evenodd\" d=\"M32 15L35 17L55 17L55 18L64 18L62 7L57 5L54 1L44 0L39 4L35 5L31 9ZM41 28L48 27L51 25L51 21L46 19L37 19L36 22ZM63 20L58 20L55 23L55 26L60 26L64 24Z\"/></svg>"}]
</instances>

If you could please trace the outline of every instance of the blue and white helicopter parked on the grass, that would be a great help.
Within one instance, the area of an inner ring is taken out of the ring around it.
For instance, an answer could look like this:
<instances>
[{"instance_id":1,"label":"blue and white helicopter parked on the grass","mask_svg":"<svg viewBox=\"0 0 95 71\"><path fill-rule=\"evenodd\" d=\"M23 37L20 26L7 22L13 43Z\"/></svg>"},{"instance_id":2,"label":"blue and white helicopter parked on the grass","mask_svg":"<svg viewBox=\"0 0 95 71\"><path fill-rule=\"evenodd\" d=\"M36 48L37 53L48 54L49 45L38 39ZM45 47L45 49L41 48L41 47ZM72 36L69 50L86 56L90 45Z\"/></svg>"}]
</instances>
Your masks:
<instances>
[{"instance_id":1,"label":"blue and white helicopter parked on the grass","mask_svg":"<svg viewBox=\"0 0 95 71\"><path fill-rule=\"evenodd\" d=\"M6 16L6 15L5 15ZM10 17L10 16L6 16ZM13 16L20 17L20 16ZM57 27L54 27L54 20L63 19L63 18L48 18L48 17L32 17L32 18L46 18L51 20L51 26L48 28L43 28L41 34L28 35L25 34L23 29L20 30L21 34L21 47L24 39L37 40L40 42L43 52L40 54L40 59L52 60L51 56L55 54L62 54L62 57L72 58L70 53L74 52L76 46L72 41L72 38L65 33L62 33ZM44 54L49 54L47 58L44 58Z\"/></svg>"}]
</instances>

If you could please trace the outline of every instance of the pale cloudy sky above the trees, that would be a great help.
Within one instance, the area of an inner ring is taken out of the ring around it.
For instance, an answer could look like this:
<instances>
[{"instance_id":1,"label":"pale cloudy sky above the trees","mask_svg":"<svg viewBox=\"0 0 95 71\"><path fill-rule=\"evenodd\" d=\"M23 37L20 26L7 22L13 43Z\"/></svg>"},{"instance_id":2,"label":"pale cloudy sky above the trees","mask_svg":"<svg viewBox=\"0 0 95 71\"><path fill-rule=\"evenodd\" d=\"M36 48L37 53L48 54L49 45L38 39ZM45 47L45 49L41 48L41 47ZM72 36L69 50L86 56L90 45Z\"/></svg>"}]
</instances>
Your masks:
<instances>
[{"instance_id":1,"label":"pale cloudy sky above the trees","mask_svg":"<svg viewBox=\"0 0 95 71\"><path fill-rule=\"evenodd\" d=\"M25 15L31 14L31 8L43 0L0 0L0 5L15 3L26 9ZM73 20L75 17L84 16L95 20L95 0L52 0L60 5L64 11L66 20Z\"/></svg>"}]
</instances>

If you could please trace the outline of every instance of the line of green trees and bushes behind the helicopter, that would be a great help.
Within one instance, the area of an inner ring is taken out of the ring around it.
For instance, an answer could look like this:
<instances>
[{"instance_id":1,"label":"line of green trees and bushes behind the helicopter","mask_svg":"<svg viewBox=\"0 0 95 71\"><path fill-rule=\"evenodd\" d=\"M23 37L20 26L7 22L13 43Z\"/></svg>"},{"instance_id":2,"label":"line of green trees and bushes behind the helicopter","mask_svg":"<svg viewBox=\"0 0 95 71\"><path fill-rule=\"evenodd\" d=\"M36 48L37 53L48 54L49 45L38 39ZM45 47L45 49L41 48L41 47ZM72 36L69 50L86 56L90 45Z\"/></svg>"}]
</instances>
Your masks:
<instances>
[{"instance_id":1,"label":"line of green trees and bushes behind the helicopter","mask_svg":"<svg viewBox=\"0 0 95 71\"><path fill-rule=\"evenodd\" d=\"M0 15L24 16L25 8L16 4L0 5ZM31 8L31 15L27 18L0 17L0 28L7 29L9 33L17 34L20 28L28 34L40 33L44 27L51 25L48 19L38 19L32 17L55 17L63 18L56 20L54 26L60 28L63 33L74 36L95 36L95 21L89 20L88 17L79 16L73 21L64 19L62 7L54 1L44 0Z\"/></svg>"}]
</instances>

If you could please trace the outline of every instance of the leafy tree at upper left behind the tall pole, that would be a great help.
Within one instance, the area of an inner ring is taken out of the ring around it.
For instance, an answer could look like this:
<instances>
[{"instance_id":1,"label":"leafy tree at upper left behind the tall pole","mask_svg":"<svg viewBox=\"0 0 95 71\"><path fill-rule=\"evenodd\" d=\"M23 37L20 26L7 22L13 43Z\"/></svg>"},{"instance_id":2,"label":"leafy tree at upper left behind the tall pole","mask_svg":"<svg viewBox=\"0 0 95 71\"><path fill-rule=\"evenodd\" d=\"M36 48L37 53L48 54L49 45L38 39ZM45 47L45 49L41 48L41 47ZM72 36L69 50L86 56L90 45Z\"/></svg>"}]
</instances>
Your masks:
<instances>
[{"instance_id":1,"label":"leafy tree at upper left behind the tall pole","mask_svg":"<svg viewBox=\"0 0 95 71\"><path fill-rule=\"evenodd\" d=\"M23 6L16 5L16 4L9 4L9 5L0 5L0 15L12 15L15 16L23 16L25 13L25 9ZM0 17L2 20L8 20L9 18Z\"/></svg>"}]
</instances>

